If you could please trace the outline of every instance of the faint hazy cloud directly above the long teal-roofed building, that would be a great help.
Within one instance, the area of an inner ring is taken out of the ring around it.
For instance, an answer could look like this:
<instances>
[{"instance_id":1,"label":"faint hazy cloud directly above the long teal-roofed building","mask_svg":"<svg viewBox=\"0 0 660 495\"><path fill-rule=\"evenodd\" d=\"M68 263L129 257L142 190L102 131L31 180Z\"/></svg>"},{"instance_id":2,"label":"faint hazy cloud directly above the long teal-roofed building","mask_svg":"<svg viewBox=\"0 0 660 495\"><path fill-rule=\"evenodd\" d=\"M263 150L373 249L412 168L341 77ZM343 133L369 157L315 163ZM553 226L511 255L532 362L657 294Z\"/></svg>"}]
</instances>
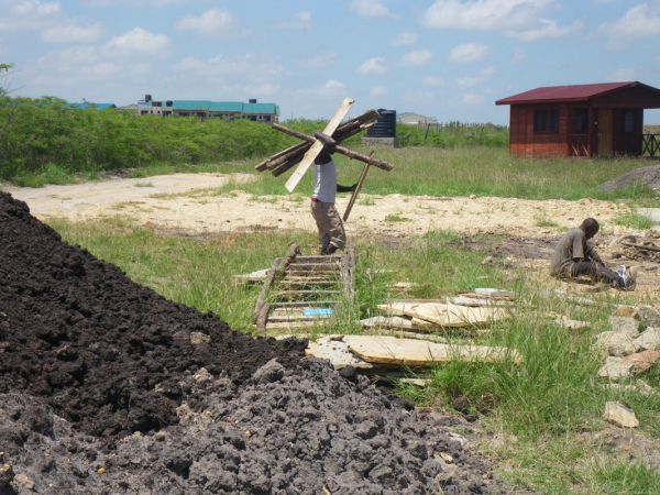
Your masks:
<instances>
[{"instance_id":1,"label":"faint hazy cloud directly above the long teal-roofed building","mask_svg":"<svg viewBox=\"0 0 660 495\"><path fill-rule=\"evenodd\" d=\"M273 62L272 56L257 53L218 55L206 61L189 56L170 68L174 72L220 78L230 76L250 79L275 78L285 73L279 65Z\"/></svg>"}]
</instances>

